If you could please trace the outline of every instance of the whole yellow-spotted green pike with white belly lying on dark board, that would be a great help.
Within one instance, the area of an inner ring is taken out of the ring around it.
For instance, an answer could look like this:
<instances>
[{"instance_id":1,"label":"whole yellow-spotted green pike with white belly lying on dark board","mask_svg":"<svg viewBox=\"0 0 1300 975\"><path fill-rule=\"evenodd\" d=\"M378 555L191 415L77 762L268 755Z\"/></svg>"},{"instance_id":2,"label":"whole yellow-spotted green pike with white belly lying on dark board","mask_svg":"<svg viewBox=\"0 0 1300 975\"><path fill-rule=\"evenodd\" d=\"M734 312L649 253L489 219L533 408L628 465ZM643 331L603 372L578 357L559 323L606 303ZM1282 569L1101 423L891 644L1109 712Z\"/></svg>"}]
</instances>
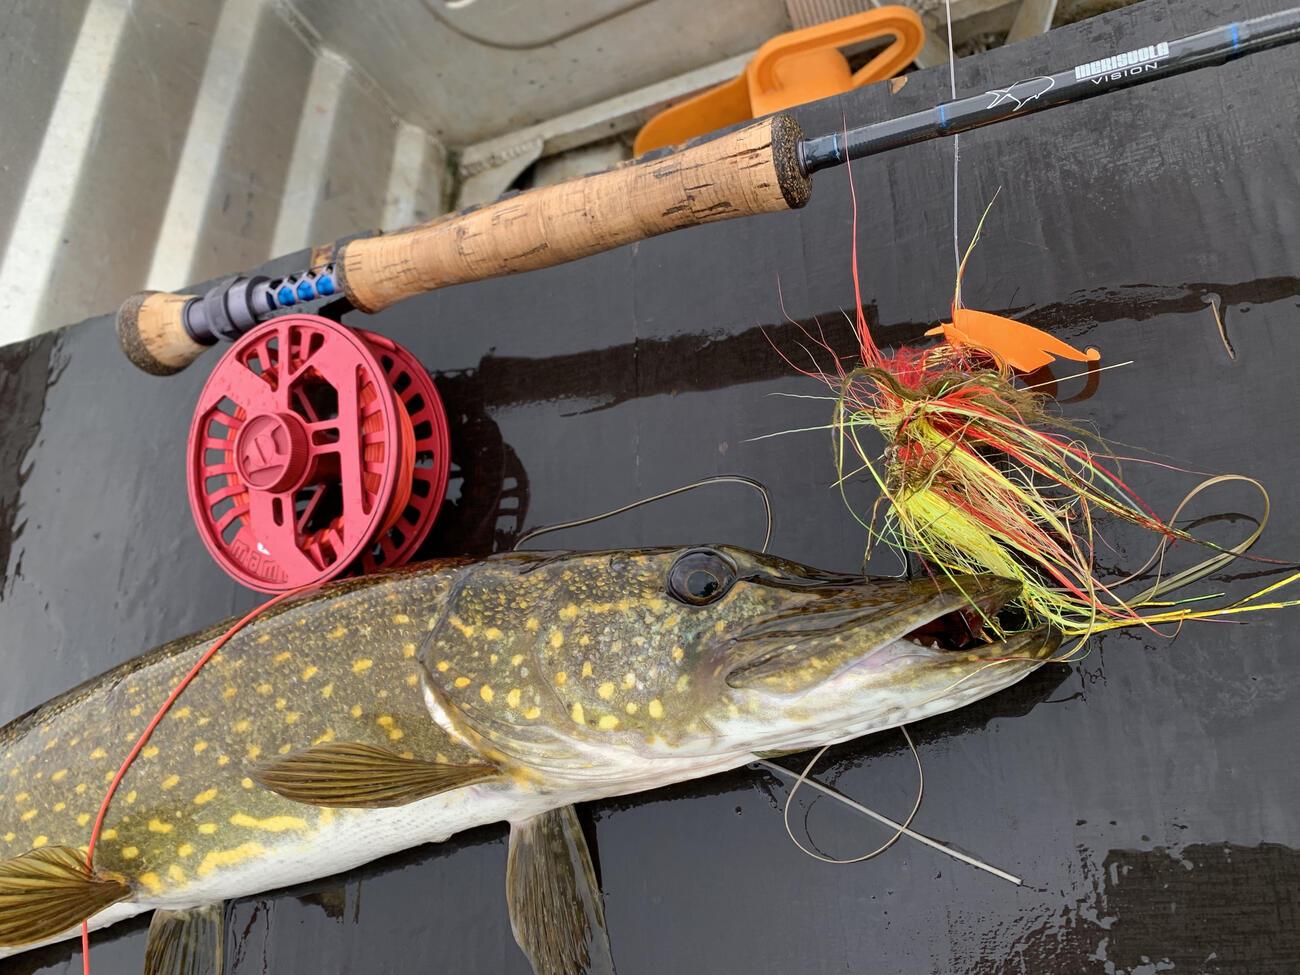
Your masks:
<instances>
[{"instance_id":1,"label":"whole yellow-spotted green pike with white belly lying on dark board","mask_svg":"<svg viewBox=\"0 0 1300 975\"><path fill-rule=\"evenodd\" d=\"M511 922L534 970L612 971L572 803L992 694L1058 638L954 642L944 627L1015 594L987 576L870 580L712 546L434 562L286 601L164 718L92 870L108 783L228 625L0 729L0 948L153 910L147 971L220 971L225 901L504 820Z\"/></svg>"}]
</instances>

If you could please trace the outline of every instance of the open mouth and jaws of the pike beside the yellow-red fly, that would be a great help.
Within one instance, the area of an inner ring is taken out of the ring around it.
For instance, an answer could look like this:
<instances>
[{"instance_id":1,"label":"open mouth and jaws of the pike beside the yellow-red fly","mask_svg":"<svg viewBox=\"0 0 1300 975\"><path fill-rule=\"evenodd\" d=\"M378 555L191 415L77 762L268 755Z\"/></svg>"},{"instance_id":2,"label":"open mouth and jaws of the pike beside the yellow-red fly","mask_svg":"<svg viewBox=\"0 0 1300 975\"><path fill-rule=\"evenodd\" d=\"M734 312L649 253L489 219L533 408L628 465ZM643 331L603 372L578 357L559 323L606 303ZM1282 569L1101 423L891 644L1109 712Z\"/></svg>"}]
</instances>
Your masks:
<instances>
[{"instance_id":1,"label":"open mouth and jaws of the pike beside the yellow-red fly","mask_svg":"<svg viewBox=\"0 0 1300 975\"><path fill-rule=\"evenodd\" d=\"M734 638L738 663L727 675L732 688L789 688L793 671L812 667L823 677L893 647L926 659L1045 662L1061 636L1048 627L1001 637L993 625L1020 593L997 576L858 581L824 598L776 614ZM861 637L861 638L850 638Z\"/></svg>"}]
</instances>

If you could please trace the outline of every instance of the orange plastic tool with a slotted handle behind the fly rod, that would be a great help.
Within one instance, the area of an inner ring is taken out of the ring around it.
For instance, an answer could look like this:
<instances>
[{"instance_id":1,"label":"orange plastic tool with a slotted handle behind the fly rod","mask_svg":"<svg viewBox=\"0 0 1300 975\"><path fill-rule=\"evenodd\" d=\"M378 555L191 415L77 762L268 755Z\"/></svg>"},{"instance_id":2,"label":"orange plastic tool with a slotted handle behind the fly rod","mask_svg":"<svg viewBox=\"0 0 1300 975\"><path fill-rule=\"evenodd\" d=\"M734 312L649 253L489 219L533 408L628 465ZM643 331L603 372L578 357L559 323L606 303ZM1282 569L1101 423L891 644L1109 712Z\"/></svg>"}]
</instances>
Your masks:
<instances>
[{"instance_id":1,"label":"orange plastic tool with a slotted handle behind the fly rod","mask_svg":"<svg viewBox=\"0 0 1300 975\"><path fill-rule=\"evenodd\" d=\"M889 47L857 72L849 70L838 48L888 35L894 38ZM676 146L728 125L892 78L913 62L924 42L920 17L906 6L881 6L779 34L758 49L744 74L666 108L646 122L637 133L633 152L640 156Z\"/></svg>"}]
</instances>

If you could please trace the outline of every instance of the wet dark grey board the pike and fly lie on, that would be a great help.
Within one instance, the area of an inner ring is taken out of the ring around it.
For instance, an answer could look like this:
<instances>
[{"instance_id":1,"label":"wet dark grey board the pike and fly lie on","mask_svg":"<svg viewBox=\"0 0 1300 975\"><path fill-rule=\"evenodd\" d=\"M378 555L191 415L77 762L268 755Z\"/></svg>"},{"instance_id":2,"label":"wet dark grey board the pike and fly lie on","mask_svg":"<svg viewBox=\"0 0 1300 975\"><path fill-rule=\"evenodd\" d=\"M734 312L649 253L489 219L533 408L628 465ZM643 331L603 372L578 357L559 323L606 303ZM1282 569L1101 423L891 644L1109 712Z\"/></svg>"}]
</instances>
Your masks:
<instances>
[{"instance_id":1,"label":"wet dark grey board the pike and fly lie on","mask_svg":"<svg viewBox=\"0 0 1300 975\"><path fill-rule=\"evenodd\" d=\"M1283 3L1149 0L963 61L963 92L1006 84ZM801 109L809 131L915 110L946 74ZM1001 188L965 289L1106 363L1065 410L1173 463L1258 477L1262 555L1300 554L1300 168L1294 51L1183 75L962 139L962 231ZM916 341L952 286L952 146L854 166L864 300L881 341ZM774 550L853 569L864 538L829 488L824 403L797 354L819 320L842 350L852 303L844 172L798 214L715 225L580 264L464 286L377 318L436 373L462 476L428 551L508 547L523 524L584 516L697 477L768 482ZM1221 296L1231 360L1205 299ZM0 719L256 598L190 525L183 445L212 358L133 372L108 320L0 352ZM1193 480L1130 467L1167 512ZM866 507L866 486L853 488ZM1199 530L1235 540L1256 502L1225 490ZM555 541L757 545L759 512L711 488ZM1115 536L1108 562L1145 542ZM881 562L880 571L893 571ZM1217 582L1277 575L1243 564ZM585 810L623 975L638 972L1294 972L1300 968L1300 611L1093 641L965 711L915 727L918 828L1018 874L1014 888L902 842L831 867L785 837L784 786L740 770ZM915 785L894 734L836 749L823 776L902 815ZM828 853L883 835L798 805ZM506 831L485 828L231 909L228 971L526 972L504 909ZM94 941L98 975L139 971L144 924ZM5 972L79 971L55 946Z\"/></svg>"}]
</instances>

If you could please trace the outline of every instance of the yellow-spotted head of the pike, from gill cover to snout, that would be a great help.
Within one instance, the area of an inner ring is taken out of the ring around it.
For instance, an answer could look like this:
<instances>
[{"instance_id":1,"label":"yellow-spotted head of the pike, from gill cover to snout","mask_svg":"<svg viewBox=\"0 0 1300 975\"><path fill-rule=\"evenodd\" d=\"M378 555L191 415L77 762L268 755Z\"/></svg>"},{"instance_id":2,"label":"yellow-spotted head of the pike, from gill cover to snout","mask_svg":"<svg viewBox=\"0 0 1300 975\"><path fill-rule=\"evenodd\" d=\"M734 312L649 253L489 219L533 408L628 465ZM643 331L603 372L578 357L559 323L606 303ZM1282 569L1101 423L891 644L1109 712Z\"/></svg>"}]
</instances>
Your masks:
<instances>
[{"instance_id":1,"label":"yellow-spotted head of the pike, from gill cover to snout","mask_svg":"<svg viewBox=\"0 0 1300 975\"><path fill-rule=\"evenodd\" d=\"M1017 593L731 546L507 556L467 569L421 660L439 723L481 751L608 780L844 741L991 694L1058 644L1046 629L984 638Z\"/></svg>"}]
</instances>

